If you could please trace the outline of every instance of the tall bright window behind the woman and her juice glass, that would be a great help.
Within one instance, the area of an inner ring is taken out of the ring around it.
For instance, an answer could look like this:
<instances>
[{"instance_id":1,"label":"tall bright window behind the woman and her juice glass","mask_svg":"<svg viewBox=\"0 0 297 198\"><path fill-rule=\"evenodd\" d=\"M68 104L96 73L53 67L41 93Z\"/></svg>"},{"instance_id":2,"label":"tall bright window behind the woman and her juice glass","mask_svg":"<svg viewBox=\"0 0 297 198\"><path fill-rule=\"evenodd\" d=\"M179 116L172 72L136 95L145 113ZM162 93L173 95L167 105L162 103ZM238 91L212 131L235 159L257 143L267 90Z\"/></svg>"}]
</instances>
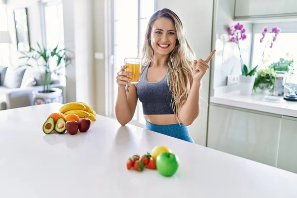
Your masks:
<instances>
[{"instance_id":1,"label":"tall bright window behind the woman and her juice glass","mask_svg":"<svg viewBox=\"0 0 297 198\"><path fill-rule=\"evenodd\" d=\"M154 0L114 0L113 1L113 106L117 98L116 76L126 57L141 57L145 31L150 16L154 12ZM142 104L138 105L133 117L137 125L145 124Z\"/></svg>"}]
</instances>

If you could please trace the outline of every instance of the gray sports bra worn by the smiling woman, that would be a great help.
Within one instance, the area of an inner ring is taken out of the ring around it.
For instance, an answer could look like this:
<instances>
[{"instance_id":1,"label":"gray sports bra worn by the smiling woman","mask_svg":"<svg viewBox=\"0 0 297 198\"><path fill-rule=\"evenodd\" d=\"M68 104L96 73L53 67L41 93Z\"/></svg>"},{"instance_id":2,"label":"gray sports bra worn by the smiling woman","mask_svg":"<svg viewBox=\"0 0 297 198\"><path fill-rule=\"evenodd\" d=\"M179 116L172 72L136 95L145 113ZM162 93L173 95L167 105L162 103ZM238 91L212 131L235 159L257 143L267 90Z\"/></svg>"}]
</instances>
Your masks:
<instances>
[{"instance_id":1,"label":"gray sports bra worn by the smiling woman","mask_svg":"<svg viewBox=\"0 0 297 198\"><path fill-rule=\"evenodd\" d=\"M144 68L137 84L137 95L143 104L143 113L144 115L174 114L171 108L172 93L167 84L168 70L162 80L151 83L147 79L149 64Z\"/></svg>"}]
</instances>

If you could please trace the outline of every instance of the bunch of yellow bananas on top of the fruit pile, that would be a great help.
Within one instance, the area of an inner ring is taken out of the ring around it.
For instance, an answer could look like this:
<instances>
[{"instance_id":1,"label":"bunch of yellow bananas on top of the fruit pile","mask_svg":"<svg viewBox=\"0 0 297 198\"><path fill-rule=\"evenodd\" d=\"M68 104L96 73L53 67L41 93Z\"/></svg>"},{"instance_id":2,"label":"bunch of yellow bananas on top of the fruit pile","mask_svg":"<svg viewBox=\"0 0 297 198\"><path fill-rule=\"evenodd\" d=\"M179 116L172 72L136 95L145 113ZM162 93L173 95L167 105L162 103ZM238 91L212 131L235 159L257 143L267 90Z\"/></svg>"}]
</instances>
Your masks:
<instances>
[{"instance_id":1,"label":"bunch of yellow bananas on top of the fruit pile","mask_svg":"<svg viewBox=\"0 0 297 198\"><path fill-rule=\"evenodd\" d=\"M59 112L68 115L76 114L80 118L89 118L92 121L96 120L96 112L93 108L84 102L68 102L61 106Z\"/></svg>"}]
</instances>

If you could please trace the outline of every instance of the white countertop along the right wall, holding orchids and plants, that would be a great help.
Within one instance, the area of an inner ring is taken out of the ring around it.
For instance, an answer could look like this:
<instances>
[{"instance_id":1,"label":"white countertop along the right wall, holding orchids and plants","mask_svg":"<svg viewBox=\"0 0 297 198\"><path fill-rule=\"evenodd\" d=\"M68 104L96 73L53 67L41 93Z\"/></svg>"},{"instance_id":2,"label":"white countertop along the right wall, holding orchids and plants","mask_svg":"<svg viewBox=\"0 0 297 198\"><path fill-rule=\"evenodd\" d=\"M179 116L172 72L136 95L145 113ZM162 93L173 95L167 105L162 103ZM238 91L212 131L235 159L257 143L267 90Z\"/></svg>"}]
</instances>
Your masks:
<instances>
[{"instance_id":1,"label":"white countertop along the right wall, holding orchids and plants","mask_svg":"<svg viewBox=\"0 0 297 198\"><path fill-rule=\"evenodd\" d=\"M263 101L265 95L240 95L239 91L210 97L210 103L246 108L267 113L297 117L297 101ZM282 97L277 97L282 98Z\"/></svg>"}]
</instances>

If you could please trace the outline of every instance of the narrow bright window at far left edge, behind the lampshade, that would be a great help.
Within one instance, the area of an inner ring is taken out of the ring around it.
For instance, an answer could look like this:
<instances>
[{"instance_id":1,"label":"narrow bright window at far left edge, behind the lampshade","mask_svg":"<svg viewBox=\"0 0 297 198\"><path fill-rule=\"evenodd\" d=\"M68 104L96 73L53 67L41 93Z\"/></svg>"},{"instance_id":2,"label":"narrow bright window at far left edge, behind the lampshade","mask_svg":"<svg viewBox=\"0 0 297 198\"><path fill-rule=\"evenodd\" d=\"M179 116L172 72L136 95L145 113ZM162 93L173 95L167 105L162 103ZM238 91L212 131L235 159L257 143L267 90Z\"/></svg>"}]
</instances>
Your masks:
<instances>
[{"instance_id":1,"label":"narrow bright window at far left edge, behind the lampshade","mask_svg":"<svg viewBox=\"0 0 297 198\"><path fill-rule=\"evenodd\" d=\"M11 38L8 32L7 13L5 6L0 6L0 31L1 36L3 36L3 38L0 39L0 65L9 66Z\"/></svg>"}]
</instances>

